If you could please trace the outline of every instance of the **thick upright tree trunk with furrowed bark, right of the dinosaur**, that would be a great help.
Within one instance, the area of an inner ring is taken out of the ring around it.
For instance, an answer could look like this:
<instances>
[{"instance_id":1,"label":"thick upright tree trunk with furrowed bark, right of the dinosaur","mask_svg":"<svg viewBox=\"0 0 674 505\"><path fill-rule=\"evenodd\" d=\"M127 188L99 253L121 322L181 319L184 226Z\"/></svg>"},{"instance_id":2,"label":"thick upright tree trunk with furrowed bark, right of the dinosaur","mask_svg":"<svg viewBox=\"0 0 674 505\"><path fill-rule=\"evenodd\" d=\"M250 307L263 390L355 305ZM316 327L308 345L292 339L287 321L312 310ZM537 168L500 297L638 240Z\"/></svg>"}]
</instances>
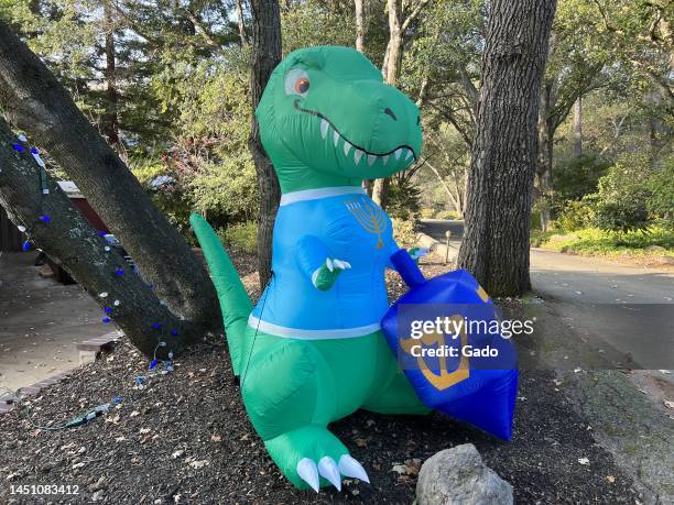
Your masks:
<instances>
[{"instance_id":1,"label":"thick upright tree trunk with furrowed bark, right of the dinosaur","mask_svg":"<svg viewBox=\"0 0 674 505\"><path fill-rule=\"evenodd\" d=\"M555 0L494 0L458 264L492 296L531 287L529 229L539 98Z\"/></svg>"}]
</instances>

